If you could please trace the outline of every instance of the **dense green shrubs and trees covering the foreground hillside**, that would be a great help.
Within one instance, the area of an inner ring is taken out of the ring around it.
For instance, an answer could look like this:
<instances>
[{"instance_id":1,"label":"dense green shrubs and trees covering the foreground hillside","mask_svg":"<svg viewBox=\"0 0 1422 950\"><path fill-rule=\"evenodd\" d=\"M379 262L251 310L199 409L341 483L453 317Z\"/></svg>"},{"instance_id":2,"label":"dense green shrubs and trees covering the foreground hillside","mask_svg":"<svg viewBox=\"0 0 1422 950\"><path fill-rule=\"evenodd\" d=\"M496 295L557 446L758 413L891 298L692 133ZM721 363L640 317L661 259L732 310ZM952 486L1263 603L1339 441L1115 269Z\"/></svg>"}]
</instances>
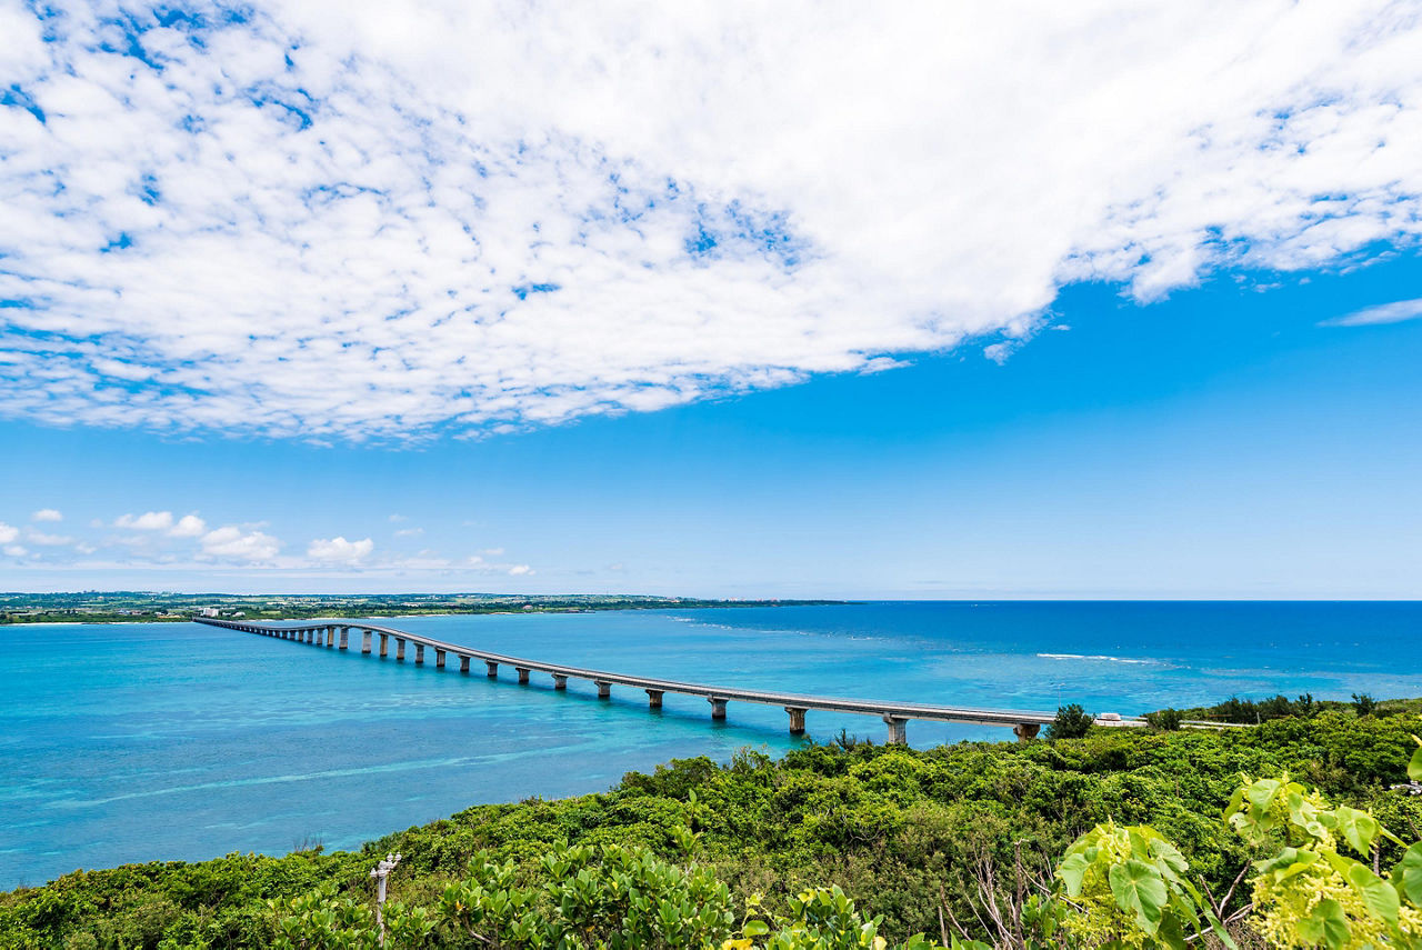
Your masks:
<instances>
[{"instance_id":1,"label":"dense green shrubs and trees covering the foreground hillside","mask_svg":"<svg viewBox=\"0 0 1422 950\"><path fill-rule=\"evenodd\" d=\"M572 934L586 946L788 950L917 933L961 947L1143 947L1213 933L1212 917L1240 947L1264 946L1261 932L1371 933L1357 914L1391 904L1354 866L1374 875L1378 862L1384 882L1401 868L1404 882L1422 860L1399 843L1422 838L1422 795L1394 788L1422 717L1344 705L1250 730L1089 728L924 751L845 740L779 761L675 761L606 794L482 805L360 852L67 875L0 895L0 947L370 946L370 870L390 852L404 855L390 876L392 947L574 946ZM1244 775L1263 778L1231 805ZM1226 823L1227 808L1246 819ZM1281 823L1295 813L1301 822ZM1324 853L1345 848L1368 853L1348 865ZM1301 856L1310 850L1321 858ZM1359 906L1338 892L1337 913L1298 904L1287 889L1260 890L1258 868L1284 882L1334 869L1341 883L1328 887L1372 896ZM1388 886L1406 922L1416 896Z\"/></svg>"}]
</instances>

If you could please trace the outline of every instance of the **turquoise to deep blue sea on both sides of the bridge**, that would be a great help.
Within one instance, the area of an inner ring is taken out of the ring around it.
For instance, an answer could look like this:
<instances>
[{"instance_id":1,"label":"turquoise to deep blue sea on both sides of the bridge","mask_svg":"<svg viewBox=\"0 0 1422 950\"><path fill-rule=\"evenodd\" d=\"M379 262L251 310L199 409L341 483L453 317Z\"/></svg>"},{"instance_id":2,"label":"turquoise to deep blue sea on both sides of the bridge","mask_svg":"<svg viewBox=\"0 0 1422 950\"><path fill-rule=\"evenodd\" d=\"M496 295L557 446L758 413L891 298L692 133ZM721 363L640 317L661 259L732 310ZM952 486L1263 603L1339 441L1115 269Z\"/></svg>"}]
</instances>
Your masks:
<instances>
[{"instance_id":1,"label":"turquoise to deep blue sea on both sides of the bridge","mask_svg":"<svg viewBox=\"0 0 1422 950\"><path fill-rule=\"evenodd\" d=\"M400 617L499 653L863 698L1143 712L1311 691L1422 695L1422 603L863 603ZM411 650L412 654L412 650ZM809 734L883 738L811 711ZM909 722L914 747L1011 740ZM479 802L604 791L671 758L793 747L775 707L599 701L218 627L0 627L0 889L77 868L327 849Z\"/></svg>"}]
</instances>

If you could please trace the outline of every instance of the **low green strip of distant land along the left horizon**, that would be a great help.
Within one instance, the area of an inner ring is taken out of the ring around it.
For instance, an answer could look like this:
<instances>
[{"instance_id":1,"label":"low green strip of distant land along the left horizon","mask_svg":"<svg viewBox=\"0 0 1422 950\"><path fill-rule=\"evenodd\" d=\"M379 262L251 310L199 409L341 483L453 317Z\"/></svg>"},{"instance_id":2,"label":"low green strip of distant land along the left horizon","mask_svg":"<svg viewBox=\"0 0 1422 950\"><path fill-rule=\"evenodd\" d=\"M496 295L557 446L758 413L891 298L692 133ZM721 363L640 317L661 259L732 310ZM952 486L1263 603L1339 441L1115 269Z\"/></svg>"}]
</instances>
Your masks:
<instances>
[{"instance_id":1,"label":"low green strip of distant land along the left horizon","mask_svg":"<svg viewBox=\"0 0 1422 950\"><path fill-rule=\"evenodd\" d=\"M193 614L247 620L307 617L410 617L444 613L577 613L586 610L688 610L698 607L776 607L842 600L702 600L644 594L225 594L149 590L0 593L0 626L18 623L182 621Z\"/></svg>"}]
</instances>

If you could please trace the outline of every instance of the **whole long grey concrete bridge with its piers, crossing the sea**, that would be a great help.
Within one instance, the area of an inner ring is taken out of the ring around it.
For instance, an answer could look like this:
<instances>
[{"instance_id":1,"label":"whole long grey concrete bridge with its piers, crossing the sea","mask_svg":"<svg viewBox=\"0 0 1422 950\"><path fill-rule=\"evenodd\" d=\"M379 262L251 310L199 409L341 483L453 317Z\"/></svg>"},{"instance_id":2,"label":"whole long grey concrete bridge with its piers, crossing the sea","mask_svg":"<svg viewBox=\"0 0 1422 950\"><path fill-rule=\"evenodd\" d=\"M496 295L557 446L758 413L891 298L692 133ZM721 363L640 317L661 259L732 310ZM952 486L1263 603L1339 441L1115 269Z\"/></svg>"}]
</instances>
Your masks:
<instances>
[{"instance_id":1,"label":"whole long grey concrete bridge with its piers, crossing the sea","mask_svg":"<svg viewBox=\"0 0 1422 950\"><path fill-rule=\"evenodd\" d=\"M459 657L459 671L469 671L471 660L481 660L488 670L488 677L498 678L499 667L508 666L518 671L519 683L526 684L529 681L530 673L546 673L553 677L553 688L565 690L567 688L567 681L573 680L589 680L597 685L597 695L600 698L609 698L611 695L613 685L627 685L647 693L647 701L650 708L661 708L661 697L665 693L675 693L681 695L700 695L705 697L707 703L711 704L711 718L724 720L725 718L725 704L729 701L735 703L759 703L762 705L779 705L791 717L791 735L802 735L805 732L805 712L809 710L823 710L828 712L855 712L860 715L877 715L889 727L889 741L890 742L906 742L906 724L909 720L934 720L939 722L967 722L973 725L1005 725L1012 730L1012 732L1020 740L1035 738L1042 725L1049 724L1057 718L1055 712L1021 712L1011 710L978 710L956 705L926 705L919 703L897 703L884 700L852 700L839 697L823 697L823 695L805 695L801 693L774 693L766 690L738 690L721 685L707 685L704 683L680 683L677 680L658 680L656 677L640 677L629 676L626 673L609 673L606 670L587 670L583 667L570 667L560 663L545 663L542 660L528 660L523 657L510 657L502 653L489 653L488 650L475 650L458 643L447 643L444 640L435 640L434 637L425 637L417 633L408 633L405 630L395 630L394 627L383 627L380 624L364 623L360 620L323 620L320 623L297 624L297 626L279 626L272 623L253 623L243 620L220 620L216 617L193 617L198 623L206 623L215 627L228 627L232 630L242 630L246 633L257 633L267 637L277 637L282 640L296 640L299 643L310 643L314 646L326 646L327 649L337 647L346 650L348 646L348 634L351 630L357 630L361 634L361 653L368 654L373 649L373 636L380 637L380 656L384 658L388 656L390 641L395 641L395 658L398 661L405 660L405 644L414 644L415 647L415 664L424 664L425 650L434 650L435 653L435 667L444 668L445 658L448 656ZM337 630L340 634L337 636ZM1098 720L1103 725L1106 721ZM1143 720L1122 718L1109 721L1111 725L1145 725Z\"/></svg>"}]
</instances>

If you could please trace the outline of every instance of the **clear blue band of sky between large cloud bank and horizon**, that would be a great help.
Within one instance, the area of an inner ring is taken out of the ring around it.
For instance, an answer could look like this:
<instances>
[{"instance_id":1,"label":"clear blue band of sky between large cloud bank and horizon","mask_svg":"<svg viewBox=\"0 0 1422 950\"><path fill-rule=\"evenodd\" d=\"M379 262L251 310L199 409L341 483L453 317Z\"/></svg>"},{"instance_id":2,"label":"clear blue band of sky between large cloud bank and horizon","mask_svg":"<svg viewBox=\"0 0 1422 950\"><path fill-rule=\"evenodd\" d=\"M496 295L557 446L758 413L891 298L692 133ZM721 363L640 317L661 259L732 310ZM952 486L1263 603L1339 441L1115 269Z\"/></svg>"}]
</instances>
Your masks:
<instances>
[{"instance_id":1,"label":"clear blue band of sky between large cloud bank and horizon","mask_svg":"<svg viewBox=\"0 0 1422 950\"><path fill-rule=\"evenodd\" d=\"M9 422L0 513L58 509L34 528L101 549L60 569L31 545L6 586L1413 597L1422 320L1320 324L1418 286L1422 262L1399 256L1143 307L1072 287L1054 307L1071 329L1001 365L927 356L407 449ZM102 546L142 536L111 525L145 512L260 525L289 555L330 538L373 552L280 567L195 562L196 539L152 559Z\"/></svg>"}]
</instances>

